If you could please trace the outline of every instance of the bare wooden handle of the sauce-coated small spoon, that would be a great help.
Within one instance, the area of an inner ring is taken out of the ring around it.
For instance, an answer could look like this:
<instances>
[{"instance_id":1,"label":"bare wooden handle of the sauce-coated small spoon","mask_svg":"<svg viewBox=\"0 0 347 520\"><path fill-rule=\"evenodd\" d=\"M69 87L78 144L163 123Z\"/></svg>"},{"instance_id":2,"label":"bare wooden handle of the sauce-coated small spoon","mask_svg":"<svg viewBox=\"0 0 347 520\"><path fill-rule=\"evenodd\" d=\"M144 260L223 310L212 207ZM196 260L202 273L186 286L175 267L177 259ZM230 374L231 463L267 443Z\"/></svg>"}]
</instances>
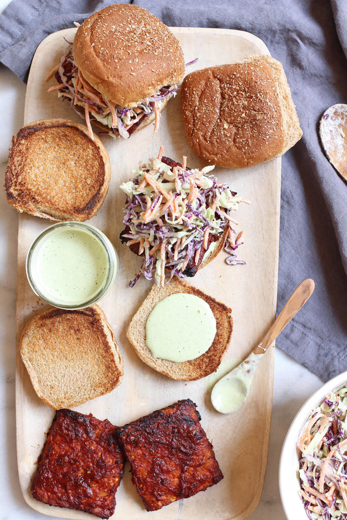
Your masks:
<instances>
[{"instance_id":1,"label":"bare wooden handle of the sauce-coated small spoon","mask_svg":"<svg viewBox=\"0 0 347 520\"><path fill-rule=\"evenodd\" d=\"M261 347L259 346L254 348L254 354L264 354L267 347L275 341L278 334L282 332L290 320L295 316L295 314L297 314L298 310L300 310L307 300L309 300L313 290L314 281L311 280L311 278L307 278L307 280L304 280L300 285L298 285L273 322L269 331L265 334L265 337L261 342Z\"/></svg>"}]
</instances>

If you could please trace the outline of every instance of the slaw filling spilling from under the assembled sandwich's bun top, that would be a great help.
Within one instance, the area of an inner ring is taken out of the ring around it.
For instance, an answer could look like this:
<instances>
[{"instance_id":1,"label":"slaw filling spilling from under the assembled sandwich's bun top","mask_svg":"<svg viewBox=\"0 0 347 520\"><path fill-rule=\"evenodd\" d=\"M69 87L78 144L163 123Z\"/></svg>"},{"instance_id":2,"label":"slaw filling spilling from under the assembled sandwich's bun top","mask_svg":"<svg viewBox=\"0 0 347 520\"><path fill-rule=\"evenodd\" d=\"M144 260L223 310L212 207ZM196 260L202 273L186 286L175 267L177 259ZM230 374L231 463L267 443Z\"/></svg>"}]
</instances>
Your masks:
<instances>
[{"instance_id":1,"label":"slaw filling spilling from under the assembled sandwich's bun top","mask_svg":"<svg viewBox=\"0 0 347 520\"><path fill-rule=\"evenodd\" d=\"M93 137L91 121L98 121L109 128L112 137L124 139L136 130L139 124L150 114L155 115L154 132L158 132L162 101L168 96L175 96L177 85L165 85L151 96L137 103L134 108L126 108L106 99L83 77L73 60L72 43L65 41L59 64L49 72L46 81L55 74L58 85L50 87L48 92L58 91L58 97L70 101L71 108L86 120L89 135ZM77 108L82 109L82 113Z\"/></svg>"}]
</instances>

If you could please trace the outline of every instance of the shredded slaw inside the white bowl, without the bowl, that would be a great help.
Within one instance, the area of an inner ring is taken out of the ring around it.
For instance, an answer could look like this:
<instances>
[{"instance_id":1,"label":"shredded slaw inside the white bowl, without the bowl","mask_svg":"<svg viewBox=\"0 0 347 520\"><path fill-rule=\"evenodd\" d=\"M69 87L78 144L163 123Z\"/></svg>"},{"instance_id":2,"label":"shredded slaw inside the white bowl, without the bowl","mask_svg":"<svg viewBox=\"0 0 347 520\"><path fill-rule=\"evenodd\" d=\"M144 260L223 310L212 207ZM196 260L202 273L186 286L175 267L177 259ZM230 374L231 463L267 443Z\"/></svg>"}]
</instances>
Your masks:
<instances>
[{"instance_id":1,"label":"shredded slaw inside the white bowl, without the bowl","mask_svg":"<svg viewBox=\"0 0 347 520\"><path fill-rule=\"evenodd\" d=\"M300 495L310 520L347 520L347 388L328 394L298 439Z\"/></svg>"}]
</instances>

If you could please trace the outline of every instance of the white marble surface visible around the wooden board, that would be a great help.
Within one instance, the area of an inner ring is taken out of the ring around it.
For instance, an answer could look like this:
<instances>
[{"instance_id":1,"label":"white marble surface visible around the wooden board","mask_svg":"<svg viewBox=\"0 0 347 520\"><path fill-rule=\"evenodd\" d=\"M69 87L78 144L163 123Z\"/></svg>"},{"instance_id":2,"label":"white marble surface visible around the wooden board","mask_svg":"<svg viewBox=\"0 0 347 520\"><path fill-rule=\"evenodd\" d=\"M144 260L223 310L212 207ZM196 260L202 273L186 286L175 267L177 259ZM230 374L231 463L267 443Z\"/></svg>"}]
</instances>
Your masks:
<instances>
[{"instance_id":1,"label":"white marble surface visible around the wooden board","mask_svg":"<svg viewBox=\"0 0 347 520\"><path fill-rule=\"evenodd\" d=\"M8 0L0 0L0 11ZM25 85L0 66L0 170L4 179L11 137L23 124ZM0 520L40 520L44 515L24 501L19 486L16 458L15 423L15 313L18 215L0 193ZM288 427L303 402L322 381L289 356L276 350L275 384L271 437L263 495L251 520L286 520L278 489L278 463ZM256 424L256 418L254 418ZM51 517L52 518L52 517Z\"/></svg>"}]
</instances>

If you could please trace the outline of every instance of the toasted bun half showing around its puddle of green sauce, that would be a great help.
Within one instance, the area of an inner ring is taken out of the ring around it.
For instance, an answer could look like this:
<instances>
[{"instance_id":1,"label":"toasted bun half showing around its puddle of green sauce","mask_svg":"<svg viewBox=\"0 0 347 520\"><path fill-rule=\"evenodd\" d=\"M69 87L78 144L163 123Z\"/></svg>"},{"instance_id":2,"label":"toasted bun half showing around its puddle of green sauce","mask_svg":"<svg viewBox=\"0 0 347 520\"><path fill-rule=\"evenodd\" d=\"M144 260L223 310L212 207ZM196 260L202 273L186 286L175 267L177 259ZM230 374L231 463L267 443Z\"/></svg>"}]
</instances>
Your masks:
<instances>
[{"instance_id":1,"label":"toasted bun half showing around its puddle of green sauce","mask_svg":"<svg viewBox=\"0 0 347 520\"><path fill-rule=\"evenodd\" d=\"M207 352L196 359L182 363L155 358L146 345L146 322L148 316L158 302L163 300L166 296L175 293L194 294L202 298L202 300L207 302L211 307L217 326L213 343ZM153 285L146 300L131 320L126 335L138 357L151 368L172 379L194 381L204 378L219 367L232 336L233 319L231 312L232 310L229 307L217 302L212 296L200 291L200 289L197 289L191 283L173 277L164 287L158 287L156 284Z\"/></svg>"}]
</instances>

